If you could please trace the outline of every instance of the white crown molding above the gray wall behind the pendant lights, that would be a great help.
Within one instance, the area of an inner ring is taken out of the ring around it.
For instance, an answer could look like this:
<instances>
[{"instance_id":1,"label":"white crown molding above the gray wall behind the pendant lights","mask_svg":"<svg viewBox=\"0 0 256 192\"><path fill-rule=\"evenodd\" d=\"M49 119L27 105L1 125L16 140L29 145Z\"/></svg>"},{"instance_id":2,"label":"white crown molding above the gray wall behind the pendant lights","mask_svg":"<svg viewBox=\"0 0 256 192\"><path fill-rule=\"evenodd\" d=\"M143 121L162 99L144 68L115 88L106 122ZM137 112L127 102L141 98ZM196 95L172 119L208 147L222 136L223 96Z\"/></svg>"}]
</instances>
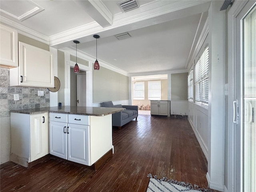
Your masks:
<instances>
[{"instance_id":1,"label":"white crown molding above the gray wall behind the pendant lights","mask_svg":"<svg viewBox=\"0 0 256 192\"><path fill-rule=\"evenodd\" d=\"M63 52L68 52L69 54L72 54L72 55L76 56L76 49L73 48L73 47L65 47L65 48L61 48L59 50L63 51ZM86 60L88 62L92 62L92 63L94 63L95 59L96 59L95 56L92 56L92 55L87 54L85 52L82 52L80 50L77 50L77 56L79 58L81 58L81 59L84 59L84 60ZM113 66L113 65L111 65L111 64L109 64L107 62L104 62L104 61L102 61L100 59L97 59L97 60L98 60L98 62L100 64L100 67L107 68L109 70L112 70L112 71L117 72L119 74L122 74L124 76L129 76L128 72L126 72L126 71L124 71L124 70L122 70L120 68L117 68L117 67L115 67L115 66Z\"/></svg>"}]
</instances>

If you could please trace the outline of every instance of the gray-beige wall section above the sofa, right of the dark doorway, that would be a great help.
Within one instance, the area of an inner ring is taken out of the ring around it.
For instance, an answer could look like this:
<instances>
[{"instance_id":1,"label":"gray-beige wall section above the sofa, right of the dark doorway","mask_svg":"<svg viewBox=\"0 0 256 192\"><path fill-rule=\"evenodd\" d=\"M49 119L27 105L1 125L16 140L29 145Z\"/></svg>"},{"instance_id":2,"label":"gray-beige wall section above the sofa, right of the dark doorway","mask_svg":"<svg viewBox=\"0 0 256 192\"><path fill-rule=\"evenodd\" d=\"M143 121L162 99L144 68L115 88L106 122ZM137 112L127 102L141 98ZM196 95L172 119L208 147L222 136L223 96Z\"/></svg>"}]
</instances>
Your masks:
<instances>
[{"instance_id":1,"label":"gray-beige wall section above the sofa, right of the dark doorway","mask_svg":"<svg viewBox=\"0 0 256 192\"><path fill-rule=\"evenodd\" d=\"M92 102L128 100L128 77L100 67L92 72Z\"/></svg>"}]
</instances>

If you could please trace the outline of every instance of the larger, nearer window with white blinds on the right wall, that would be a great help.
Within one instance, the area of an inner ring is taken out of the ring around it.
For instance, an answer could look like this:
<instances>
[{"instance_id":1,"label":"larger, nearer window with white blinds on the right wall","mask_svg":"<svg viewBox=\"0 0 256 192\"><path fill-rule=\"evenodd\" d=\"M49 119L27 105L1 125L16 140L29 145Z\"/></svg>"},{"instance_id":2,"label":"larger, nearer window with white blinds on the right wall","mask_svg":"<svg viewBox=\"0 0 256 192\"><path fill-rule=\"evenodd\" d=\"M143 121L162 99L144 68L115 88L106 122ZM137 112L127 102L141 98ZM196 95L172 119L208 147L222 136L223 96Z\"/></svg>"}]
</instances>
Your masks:
<instances>
[{"instance_id":1,"label":"larger, nearer window with white blinds on the right wall","mask_svg":"<svg viewBox=\"0 0 256 192\"><path fill-rule=\"evenodd\" d=\"M209 48L206 47L195 65L195 100L208 103Z\"/></svg>"}]
</instances>

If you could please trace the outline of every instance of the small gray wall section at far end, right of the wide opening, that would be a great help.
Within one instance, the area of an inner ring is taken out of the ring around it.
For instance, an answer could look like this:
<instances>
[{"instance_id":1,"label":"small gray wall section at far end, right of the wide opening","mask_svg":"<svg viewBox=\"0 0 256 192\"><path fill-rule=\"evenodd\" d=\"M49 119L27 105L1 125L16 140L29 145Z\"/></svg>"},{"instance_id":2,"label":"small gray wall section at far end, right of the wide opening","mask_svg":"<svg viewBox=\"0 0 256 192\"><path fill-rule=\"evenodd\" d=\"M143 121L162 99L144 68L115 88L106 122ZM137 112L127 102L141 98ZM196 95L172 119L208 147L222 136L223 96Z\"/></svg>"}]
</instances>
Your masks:
<instances>
[{"instance_id":1,"label":"small gray wall section at far end, right of the wide opening","mask_svg":"<svg viewBox=\"0 0 256 192\"><path fill-rule=\"evenodd\" d=\"M171 75L171 100L188 100L188 73Z\"/></svg>"}]
</instances>

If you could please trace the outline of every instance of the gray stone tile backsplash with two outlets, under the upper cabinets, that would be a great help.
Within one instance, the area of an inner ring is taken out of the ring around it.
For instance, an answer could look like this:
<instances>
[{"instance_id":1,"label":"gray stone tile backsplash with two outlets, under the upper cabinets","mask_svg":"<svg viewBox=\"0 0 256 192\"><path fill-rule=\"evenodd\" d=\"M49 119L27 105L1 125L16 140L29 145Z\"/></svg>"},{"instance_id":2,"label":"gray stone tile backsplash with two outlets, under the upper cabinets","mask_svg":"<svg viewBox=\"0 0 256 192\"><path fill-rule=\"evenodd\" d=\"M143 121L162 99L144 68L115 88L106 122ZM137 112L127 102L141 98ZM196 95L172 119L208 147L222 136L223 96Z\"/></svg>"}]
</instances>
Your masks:
<instances>
[{"instance_id":1,"label":"gray stone tile backsplash with two outlets, under the upper cabinets","mask_svg":"<svg viewBox=\"0 0 256 192\"><path fill-rule=\"evenodd\" d=\"M0 117L10 116L10 110L29 109L50 106L50 91L47 88L9 86L10 70L0 67ZM44 91L44 96L38 96ZM14 101L13 94L19 94L20 100Z\"/></svg>"}]
</instances>

